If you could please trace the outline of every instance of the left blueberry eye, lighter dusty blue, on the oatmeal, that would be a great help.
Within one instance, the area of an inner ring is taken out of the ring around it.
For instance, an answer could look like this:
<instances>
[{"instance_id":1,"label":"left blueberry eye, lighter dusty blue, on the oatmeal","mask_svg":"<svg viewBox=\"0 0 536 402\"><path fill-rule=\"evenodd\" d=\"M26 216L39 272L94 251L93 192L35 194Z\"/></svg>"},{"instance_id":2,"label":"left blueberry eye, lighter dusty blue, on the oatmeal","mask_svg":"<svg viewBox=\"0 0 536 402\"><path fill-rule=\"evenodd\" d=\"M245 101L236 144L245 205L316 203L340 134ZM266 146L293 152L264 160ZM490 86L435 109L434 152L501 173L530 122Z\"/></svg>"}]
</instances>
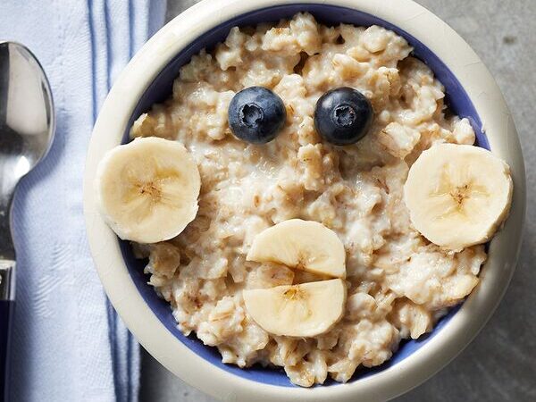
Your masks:
<instances>
[{"instance_id":1,"label":"left blueberry eye, lighter dusty blue, on the oatmeal","mask_svg":"<svg viewBox=\"0 0 536 402\"><path fill-rule=\"evenodd\" d=\"M281 97L270 89L242 89L230 101L229 127L235 137L252 144L265 144L281 131L287 112Z\"/></svg>"}]
</instances>

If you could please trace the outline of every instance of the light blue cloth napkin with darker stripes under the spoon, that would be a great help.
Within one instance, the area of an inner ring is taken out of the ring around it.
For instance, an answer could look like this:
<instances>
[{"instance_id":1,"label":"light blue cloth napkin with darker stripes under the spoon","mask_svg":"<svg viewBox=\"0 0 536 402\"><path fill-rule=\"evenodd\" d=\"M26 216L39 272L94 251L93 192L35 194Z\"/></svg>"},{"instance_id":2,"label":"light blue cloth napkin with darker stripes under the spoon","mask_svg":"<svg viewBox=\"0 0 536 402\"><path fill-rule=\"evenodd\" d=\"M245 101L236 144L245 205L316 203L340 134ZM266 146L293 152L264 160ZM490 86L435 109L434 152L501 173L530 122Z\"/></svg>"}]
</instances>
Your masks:
<instances>
[{"instance_id":1,"label":"light blue cloth napkin with darker stripes under the spoon","mask_svg":"<svg viewBox=\"0 0 536 402\"><path fill-rule=\"evenodd\" d=\"M54 93L57 130L14 201L17 294L12 401L135 401L138 344L89 255L82 176L98 108L163 24L165 0L2 0L0 40L29 46Z\"/></svg>"}]
</instances>

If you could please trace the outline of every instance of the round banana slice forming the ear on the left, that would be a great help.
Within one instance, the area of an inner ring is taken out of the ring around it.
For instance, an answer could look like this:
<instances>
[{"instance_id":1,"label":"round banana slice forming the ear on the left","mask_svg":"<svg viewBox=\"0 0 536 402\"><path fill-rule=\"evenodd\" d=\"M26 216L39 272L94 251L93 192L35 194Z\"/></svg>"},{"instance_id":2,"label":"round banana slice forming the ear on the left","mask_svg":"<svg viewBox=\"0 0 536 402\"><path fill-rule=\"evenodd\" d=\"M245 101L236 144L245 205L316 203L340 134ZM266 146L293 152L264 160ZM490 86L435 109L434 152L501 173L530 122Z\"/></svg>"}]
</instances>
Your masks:
<instances>
[{"instance_id":1,"label":"round banana slice forming the ear on the left","mask_svg":"<svg viewBox=\"0 0 536 402\"><path fill-rule=\"evenodd\" d=\"M96 173L98 205L121 239L156 243L177 236L197 214L201 180L180 143L136 138L114 147Z\"/></svg>"}]
</instances>

